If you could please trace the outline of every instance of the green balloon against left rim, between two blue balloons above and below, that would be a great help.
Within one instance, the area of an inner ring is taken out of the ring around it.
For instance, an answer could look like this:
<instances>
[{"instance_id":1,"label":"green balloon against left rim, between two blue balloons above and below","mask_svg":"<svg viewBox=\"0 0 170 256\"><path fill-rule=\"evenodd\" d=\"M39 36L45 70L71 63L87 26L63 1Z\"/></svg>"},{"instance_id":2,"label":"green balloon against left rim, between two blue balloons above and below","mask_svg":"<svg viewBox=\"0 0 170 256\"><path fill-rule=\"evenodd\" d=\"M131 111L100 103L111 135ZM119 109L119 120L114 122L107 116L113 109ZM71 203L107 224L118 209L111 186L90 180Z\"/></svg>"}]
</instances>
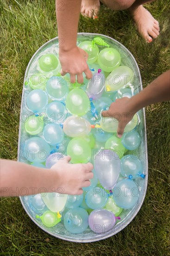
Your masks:
<instances>
[{"instance_id":1,"label":"green balloon against left rim, between two blue balloons above and below","mask_svg":"<svg viewBox=\"0 0 170 256\"><path fill-rule=\"evenodd\" d=\"M25 121L25 131L30 135L37 135L43 130L44 121L40 116L31 115Z\"/></svg>"}]
</instances>

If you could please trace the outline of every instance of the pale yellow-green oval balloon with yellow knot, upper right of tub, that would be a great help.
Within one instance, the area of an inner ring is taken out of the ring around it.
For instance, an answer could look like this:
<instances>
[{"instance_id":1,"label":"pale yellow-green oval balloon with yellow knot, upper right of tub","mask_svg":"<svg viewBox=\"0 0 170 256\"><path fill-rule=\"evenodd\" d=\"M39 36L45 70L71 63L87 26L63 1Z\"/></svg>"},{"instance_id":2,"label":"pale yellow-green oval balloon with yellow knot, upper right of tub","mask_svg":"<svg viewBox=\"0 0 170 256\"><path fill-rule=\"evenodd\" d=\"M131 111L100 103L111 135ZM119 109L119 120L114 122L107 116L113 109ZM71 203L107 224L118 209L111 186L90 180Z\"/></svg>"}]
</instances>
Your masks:
<instances>
[{"instance_id":1,"label":"pale yellow-green oval balloon with yellow knot, upper right of tub","mask_svg":"<svg viewBox=\"0 0 170 256\"><path fill-rule=\"evenodd\" d=\"M130 67L120 66L116 67L105 80L105 91L117 91L120 88L131 85L134 73Z\"/></svg>"}]
</instances>

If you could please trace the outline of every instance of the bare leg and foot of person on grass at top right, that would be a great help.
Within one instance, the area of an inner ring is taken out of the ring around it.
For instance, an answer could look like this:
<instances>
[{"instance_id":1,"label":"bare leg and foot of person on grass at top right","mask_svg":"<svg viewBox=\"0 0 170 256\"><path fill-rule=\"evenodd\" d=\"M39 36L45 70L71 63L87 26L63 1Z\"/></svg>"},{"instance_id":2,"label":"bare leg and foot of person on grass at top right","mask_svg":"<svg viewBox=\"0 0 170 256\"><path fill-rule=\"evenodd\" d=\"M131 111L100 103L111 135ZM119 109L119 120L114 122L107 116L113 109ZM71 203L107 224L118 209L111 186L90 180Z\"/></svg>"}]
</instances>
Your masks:
<instances>
[{"instance_id":1,"label":"bare leg and foot of person on grass at top right","mask_svg":"<svg viewBox=\"0 0 170 256\"><path fill-rule=\"evenodd\" d=\"M112 10L128 9L131 13L139 34L145 38L146 42L151 42L152 38L159 35L159 23L153 18L143 4L153 0L101 0Z\"/></svg>"}]
</instances>

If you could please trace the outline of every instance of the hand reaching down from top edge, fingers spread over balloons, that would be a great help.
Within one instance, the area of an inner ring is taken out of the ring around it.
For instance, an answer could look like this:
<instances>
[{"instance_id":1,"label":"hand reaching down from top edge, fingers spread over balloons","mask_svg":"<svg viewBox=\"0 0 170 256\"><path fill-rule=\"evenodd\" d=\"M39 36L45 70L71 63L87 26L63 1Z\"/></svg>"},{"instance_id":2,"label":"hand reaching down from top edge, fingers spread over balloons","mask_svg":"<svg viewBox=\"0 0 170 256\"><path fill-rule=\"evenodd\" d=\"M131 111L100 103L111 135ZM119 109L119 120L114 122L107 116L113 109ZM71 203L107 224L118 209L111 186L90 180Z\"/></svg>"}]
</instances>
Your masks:
<instances>
[{"instance_id":1,"label":"hand reaching down from top edge, fingers spread over balloons","mask_svg":"<svg viewBox=\"0 0 170 256\"><path fill-rule=\"evenodd\" d=\"M65 51L61 48L59 52L59 60L62 66L61 75L69 73L71 83L76 82L76 75L77 82L82 83L82 72L86 74L87 79L92 78L92 73L86 62L88 60L88 54L83 49L76 46Z\"/></svg>"}]
</instances>

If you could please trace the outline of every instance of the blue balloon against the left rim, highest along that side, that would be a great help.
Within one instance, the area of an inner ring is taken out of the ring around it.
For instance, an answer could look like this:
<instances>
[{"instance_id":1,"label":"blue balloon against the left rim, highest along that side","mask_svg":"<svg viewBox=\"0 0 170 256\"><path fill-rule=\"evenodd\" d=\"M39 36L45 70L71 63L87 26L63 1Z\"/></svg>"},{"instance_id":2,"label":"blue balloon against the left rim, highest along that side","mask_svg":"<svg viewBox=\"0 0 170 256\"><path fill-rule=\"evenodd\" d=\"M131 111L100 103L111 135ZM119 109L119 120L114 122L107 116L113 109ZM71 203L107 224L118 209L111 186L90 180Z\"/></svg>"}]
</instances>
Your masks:
<instances>
[{"instance_id":1,"label":"blue balloon against the left rim, highest along that side","mask_svg":"<svg viewBox=\"0 0 170 256\"><path fill-rule=\"evenodd\" d=\"M26 97L27 107L34 113L40 113L48 104L47 94L41 90L32 90Z\"/></svg>"}]
</instances>

